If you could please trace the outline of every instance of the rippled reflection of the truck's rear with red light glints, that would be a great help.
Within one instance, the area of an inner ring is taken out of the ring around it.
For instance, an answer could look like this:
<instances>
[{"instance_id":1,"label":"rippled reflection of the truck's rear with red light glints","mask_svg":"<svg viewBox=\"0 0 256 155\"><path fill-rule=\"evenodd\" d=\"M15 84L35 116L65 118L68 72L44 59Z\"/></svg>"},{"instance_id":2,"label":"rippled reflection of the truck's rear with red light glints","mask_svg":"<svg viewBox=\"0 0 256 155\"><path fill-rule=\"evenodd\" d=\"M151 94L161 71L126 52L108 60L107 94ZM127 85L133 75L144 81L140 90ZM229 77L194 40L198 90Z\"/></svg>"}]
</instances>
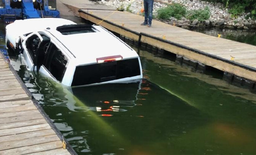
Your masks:
<instances>
[{"instance_id":1,"label":"rippled reflection of the truck's rear with red light glints","mask_svg":"<svg viewBox=\"0 0 256 155\"><path fill-rule=\"evenodd\" d=\"M122 91L120 91L122 90ZM141 90L141 80L132 83L110 83L88 87L63 88L67 99L66 106L71 111L97 111L104 114L124 112L136 106L138 92ZM48 96L48 99L56 96Z\"/></svg>"}]
</instances>

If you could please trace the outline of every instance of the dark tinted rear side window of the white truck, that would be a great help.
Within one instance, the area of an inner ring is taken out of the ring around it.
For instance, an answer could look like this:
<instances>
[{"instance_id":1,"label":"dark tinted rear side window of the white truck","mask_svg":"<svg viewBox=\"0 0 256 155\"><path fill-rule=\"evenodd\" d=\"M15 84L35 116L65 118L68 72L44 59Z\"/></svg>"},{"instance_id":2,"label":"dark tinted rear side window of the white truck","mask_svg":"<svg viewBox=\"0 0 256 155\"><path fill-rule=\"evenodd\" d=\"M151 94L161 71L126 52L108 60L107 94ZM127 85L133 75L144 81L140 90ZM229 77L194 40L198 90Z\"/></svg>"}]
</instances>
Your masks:
<instances>
[{"instance_id":1,"label":"dark tinted rear side window of the white truck","mask_svg":"<svg viewBox=\"0 0 256 155\"><path fill-rule=\"evenodd\" d=\"M61 82L66 71L67 57L53 43L50 43L46 57L45 68Z\"/></svg>"}]
</instances>

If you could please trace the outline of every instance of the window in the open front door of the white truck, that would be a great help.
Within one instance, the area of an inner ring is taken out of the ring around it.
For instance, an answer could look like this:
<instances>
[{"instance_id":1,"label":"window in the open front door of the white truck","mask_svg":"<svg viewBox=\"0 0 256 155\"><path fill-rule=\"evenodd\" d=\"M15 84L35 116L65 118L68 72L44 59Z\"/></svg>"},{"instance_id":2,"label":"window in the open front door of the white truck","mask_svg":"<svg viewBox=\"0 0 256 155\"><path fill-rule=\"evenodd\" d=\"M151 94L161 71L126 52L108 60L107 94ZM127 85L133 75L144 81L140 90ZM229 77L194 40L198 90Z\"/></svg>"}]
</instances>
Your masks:
<instances>
[{"instance_id":1,"label":"window in the open front door of the white truck","mask_svg":"<svg viewBox=\"0 0 256 155\"><path fill-rule=\"evenodd\" d=\"M37 35L32 35L30 38L26 41L26 47L29 51L29 55L31 56L32 60L34 61L34 57L36 54L36 51L38 49L38 45L40 43L40 39Z\"/></svg>"}]
</instances>

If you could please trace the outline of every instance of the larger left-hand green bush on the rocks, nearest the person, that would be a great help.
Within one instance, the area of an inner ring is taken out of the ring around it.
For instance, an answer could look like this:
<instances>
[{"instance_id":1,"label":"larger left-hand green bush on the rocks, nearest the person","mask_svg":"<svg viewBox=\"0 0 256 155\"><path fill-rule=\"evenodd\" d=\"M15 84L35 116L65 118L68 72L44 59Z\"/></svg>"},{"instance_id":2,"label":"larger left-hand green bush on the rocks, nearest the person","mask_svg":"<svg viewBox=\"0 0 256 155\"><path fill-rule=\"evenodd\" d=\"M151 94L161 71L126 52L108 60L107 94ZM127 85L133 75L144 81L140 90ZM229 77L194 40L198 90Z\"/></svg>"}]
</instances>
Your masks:
<instances>
[{"instance_id":1,"label":"larger left-hand green bush on the rocks, nearest the person","mask_svg":"<svg viewBox=\"0 0 256 155\"><path fill-rule=\"evenodd\" d=\"M186 15L186 8L180 4L174 3L173 5L169 5L164 8L160 8L157 10L157 18L158 19L170 19L170 17L175 17L178 20L181 17Z\"/></svg>"}]
</instances>

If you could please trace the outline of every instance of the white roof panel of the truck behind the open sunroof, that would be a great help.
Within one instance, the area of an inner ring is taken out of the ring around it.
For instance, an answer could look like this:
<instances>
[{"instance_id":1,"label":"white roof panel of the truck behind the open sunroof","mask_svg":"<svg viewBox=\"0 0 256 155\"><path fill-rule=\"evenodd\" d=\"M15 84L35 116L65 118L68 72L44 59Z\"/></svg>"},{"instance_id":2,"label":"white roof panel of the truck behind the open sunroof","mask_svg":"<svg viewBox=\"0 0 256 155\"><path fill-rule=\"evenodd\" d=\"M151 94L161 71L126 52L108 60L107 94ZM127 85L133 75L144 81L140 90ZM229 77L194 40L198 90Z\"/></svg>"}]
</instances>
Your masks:
<instances>
[{"instance_id":1,"label":"white roof panel of the truck behind the open sunroof","mask_svg":"<svg viewBox=\"0 0 256 155\"><path fill-rule=\"evenodd\" d=\"M78 26L78 25L77 25ZM138 57L136 51L127 46L101 26L92 25L94 32L63 34L56 29L47 30L71 53L76 63L95 63L97 58L121 55L123 59Z\"/></svg>"}]
</instances>

